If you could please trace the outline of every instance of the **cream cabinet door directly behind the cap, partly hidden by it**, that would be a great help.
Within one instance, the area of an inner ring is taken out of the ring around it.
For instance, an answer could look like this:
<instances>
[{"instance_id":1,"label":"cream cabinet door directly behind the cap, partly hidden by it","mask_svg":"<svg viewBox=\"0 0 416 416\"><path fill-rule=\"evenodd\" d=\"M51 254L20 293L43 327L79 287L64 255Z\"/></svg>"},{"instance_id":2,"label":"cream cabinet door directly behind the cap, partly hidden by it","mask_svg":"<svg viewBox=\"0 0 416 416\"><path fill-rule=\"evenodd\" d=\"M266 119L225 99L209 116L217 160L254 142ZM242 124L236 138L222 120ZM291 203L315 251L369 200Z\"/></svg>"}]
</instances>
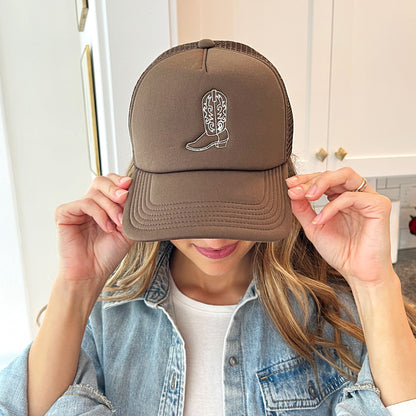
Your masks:
<instances>
[{"instance_id":1,"label":"cream cabinet door directly behind the cap, partly hidden by it","mask_svg":"<svg viewBox=\"0 0 416 416\"><path fill-rule=\"evenodd\" d=\"M332 0L177 0L179 43L235 40L276 66L293 108L293 151L301 172L326 165L315 152L328 139L331 23Z\"/></svg>"}]
</instances>

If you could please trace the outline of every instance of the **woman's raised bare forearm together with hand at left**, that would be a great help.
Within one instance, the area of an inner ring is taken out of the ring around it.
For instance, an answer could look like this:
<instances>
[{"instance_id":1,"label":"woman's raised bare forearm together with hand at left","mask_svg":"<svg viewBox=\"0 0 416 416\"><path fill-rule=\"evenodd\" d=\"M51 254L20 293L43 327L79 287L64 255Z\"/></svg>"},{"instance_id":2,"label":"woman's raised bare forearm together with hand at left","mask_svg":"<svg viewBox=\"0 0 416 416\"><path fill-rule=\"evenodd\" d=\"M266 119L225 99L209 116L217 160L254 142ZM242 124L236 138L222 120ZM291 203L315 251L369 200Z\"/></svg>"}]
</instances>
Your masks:
<instances>
[{"instance_id":1,"label":"woman's raised bare forearm together with hand at left","mask_svg":"<svg viewBox=\"0 0 416 416\"><path fill-rule=\"evenodd\" d=\"M44 415L73 383L88 317L133 241L121 228L130 178L97 177L84 198L56 209L58 277L28 359L28 413Z\"/></svg>"}]
</instances>

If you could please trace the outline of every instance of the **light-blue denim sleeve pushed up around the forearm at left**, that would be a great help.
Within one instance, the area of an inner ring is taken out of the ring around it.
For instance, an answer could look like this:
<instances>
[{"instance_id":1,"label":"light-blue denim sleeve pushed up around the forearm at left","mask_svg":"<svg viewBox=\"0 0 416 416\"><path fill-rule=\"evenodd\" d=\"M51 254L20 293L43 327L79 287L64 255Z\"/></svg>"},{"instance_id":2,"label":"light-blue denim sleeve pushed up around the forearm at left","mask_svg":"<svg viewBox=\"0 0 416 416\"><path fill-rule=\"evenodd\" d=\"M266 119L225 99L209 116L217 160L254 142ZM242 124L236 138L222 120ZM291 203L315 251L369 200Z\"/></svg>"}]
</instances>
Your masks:
<instances>
[{"instance_id":1,"label":"light-blue denim sleeve pushed up around the forearm at left","mask_svg":"<svg viewBox=\"0 0 416 416\"><path fill-rule=\"evenodd\" d=\"M0 372L0 415L26 416L27 358L30 345ZM111 402L102 393L101 366L89 327L85 331L74 382L51 406L46 416L107 416L114 413Z\"/></svg>"}]
</instances>

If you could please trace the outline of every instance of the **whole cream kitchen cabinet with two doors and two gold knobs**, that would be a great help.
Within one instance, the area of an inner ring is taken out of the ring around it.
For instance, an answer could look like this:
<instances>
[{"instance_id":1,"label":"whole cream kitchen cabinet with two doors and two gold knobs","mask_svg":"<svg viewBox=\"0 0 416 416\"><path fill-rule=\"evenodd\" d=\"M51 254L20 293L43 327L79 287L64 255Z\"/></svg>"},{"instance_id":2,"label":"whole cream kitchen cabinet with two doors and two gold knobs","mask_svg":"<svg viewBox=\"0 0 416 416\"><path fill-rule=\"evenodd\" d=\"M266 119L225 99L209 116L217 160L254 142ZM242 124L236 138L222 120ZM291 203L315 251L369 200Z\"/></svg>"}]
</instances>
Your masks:
<instances>
[{"instance_id":1,"label":"whole cream kitchen cabinet with two doors and two gold knobs","mask_svg":"<svg viewBox=\"0 0 416 416\"><path fill-rule=\"evenodd\" d=\"M177 31L179 43L232 39L273 62L293 107L300 171L416 173L414 0L177 0Z\"/></svg>"}]
</instances>

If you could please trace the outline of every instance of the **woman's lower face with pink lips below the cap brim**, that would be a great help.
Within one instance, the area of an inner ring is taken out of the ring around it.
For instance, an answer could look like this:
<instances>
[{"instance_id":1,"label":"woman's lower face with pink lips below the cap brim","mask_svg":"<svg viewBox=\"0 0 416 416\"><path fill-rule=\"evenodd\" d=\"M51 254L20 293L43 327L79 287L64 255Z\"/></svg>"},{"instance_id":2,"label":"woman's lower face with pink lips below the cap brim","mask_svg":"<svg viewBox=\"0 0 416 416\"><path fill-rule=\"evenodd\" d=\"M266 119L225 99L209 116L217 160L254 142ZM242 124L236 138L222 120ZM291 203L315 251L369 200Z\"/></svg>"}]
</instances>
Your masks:
<instances>
[{"instance_id":1,"label":"woman's lower face with pink lips below the cap brim","mask_svg":"<svg viewBox=\"0 0 416 416\"><path fill-rule=\"evenodd\" d=\"M253 241L192 239L171 240L182 261L190 262L207 276L243 273L250 266ZM188 263L189 265L189 263Z\"/></svg>"}]
</instances>

